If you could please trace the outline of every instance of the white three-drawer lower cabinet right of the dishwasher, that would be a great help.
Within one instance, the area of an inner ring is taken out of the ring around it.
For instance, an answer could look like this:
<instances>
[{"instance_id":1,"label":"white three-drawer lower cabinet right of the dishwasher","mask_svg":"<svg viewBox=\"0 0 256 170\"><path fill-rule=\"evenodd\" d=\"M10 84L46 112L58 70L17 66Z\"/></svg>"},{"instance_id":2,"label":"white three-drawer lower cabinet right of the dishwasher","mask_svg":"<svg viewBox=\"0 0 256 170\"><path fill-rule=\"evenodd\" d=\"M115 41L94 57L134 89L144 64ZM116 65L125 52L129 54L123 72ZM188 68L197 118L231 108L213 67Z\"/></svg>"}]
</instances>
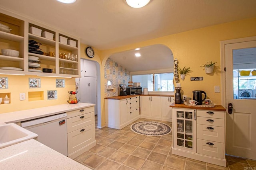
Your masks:
<instances>
[{"instance_id":1,"label":"white three-drawer lower cabinet right of the dishwasher","mask_svg":"<svg viewBox=\"0 0 256 170\"><path fill-rule=\"evenodd\" d=\"M67 112L68 157L76 158L96 145L94 106Z\"/></svg>"}]
</instances>

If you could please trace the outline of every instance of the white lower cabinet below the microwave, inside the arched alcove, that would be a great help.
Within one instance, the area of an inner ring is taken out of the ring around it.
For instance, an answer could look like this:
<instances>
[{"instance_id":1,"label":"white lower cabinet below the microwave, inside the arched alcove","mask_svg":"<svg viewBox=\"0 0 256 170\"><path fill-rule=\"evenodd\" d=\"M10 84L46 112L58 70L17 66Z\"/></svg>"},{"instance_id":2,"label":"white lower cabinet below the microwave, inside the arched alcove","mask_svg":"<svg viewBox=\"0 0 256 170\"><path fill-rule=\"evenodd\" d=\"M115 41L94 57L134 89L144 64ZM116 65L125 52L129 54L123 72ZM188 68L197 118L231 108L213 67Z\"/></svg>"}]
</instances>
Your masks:
<instances>
[{"instance_id":1,"label":"white lower cabinet below the microwave, inside the arched alcove","mask_svg":"<svg viewBox=\"0 0 256 170\"><path fill-rule=\"evenodd\" d=\"M105 99L107 127L122 129L140 118L139 96L122 100Z\"/></svg>"}]
</instances>

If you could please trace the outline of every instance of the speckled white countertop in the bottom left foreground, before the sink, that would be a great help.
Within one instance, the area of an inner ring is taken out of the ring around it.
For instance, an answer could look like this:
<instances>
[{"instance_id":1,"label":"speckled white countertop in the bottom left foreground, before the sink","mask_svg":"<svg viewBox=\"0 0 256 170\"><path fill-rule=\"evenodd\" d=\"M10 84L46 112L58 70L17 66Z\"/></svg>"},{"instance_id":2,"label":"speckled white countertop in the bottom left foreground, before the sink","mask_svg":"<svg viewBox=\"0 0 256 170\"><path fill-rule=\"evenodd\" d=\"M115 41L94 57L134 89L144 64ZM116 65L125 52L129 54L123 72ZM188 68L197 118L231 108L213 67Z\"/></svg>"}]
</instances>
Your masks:
<instances>
[{"instance_id":1,"label":"speckled white countertop in the bottom left foreground, before the sink","mask_svg":"<svg viewBox=\"0 0 256 170\"><path fill-rule=\"evenodd\" d=\"M34 139L0 149L0 167L5 170L91 170Z\"/></svg>"}]
</instances>

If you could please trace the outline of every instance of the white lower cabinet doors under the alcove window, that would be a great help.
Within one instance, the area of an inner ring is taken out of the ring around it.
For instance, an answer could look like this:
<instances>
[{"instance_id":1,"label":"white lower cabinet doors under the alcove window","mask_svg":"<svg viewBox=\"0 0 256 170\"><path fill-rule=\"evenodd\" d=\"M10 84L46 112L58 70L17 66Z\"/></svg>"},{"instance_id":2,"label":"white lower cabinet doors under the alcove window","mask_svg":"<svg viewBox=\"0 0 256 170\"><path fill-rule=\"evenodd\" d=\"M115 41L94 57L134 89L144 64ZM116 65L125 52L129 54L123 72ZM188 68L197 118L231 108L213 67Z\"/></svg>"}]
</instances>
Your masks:
<instances>
[{"instance_id":1,"label":"white lower cabinet doors under the alcove window","mask_svg":"<svg viewBox=\"0 0 256 170\"><path fill-rule=\"evenodd\" d=\"M174 97L170 96L140 96L140 116L146 119L172 121L170 104Z\"/></svg>"}]
</instances>

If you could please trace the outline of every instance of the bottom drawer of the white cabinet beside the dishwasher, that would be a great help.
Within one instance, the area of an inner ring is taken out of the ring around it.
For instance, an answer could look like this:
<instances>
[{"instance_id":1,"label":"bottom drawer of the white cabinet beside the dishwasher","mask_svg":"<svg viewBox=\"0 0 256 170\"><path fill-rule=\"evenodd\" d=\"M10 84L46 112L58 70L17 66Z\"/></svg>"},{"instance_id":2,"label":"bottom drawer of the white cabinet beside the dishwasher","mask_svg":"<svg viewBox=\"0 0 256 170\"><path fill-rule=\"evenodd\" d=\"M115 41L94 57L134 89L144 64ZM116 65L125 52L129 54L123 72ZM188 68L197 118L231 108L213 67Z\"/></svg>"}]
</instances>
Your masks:
<instances>
[{"instance_id":1,"label":"bottom drawer of the white cabinet beside the dishwasher","mask_svg":"<svg viewBox=\"0 0 256 170\"><path fill-rule=\"evenodd\" d=\"M95 141L94 124L68 133L68 155Z\"/></svg>"}]
</instances>

